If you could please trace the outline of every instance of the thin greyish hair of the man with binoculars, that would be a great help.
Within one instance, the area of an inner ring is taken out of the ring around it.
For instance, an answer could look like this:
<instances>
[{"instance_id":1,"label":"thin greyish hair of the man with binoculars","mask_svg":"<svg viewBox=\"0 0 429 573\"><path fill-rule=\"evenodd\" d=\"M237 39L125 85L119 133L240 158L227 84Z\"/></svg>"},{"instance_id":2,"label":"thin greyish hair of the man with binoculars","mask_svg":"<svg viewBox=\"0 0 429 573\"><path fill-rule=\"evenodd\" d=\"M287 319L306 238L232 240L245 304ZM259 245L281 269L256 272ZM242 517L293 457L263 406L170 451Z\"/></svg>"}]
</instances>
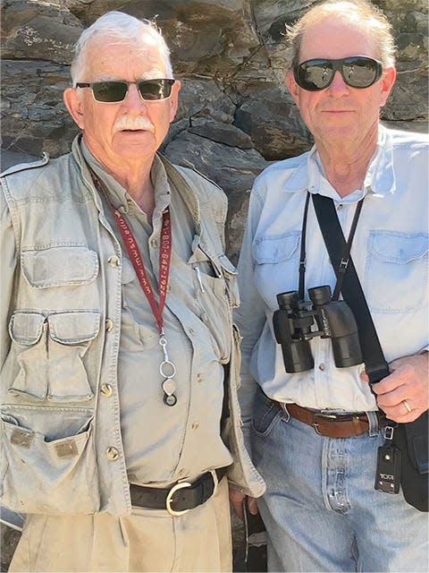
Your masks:
<instances>
[{"instance_id":1,"label":"thin greyish hair of the man with binoculars","mask_svg":"<svg viewBox=\"0 0 429 573\"><path fill-rule=\"evenodd\" d=\"M308 10L298 21L286 26L286 71L299 64L302 38L309 26L326 17L349 21L373 40L376 57L383 67L395 65L395 43L391 23L384 13L369 0L324 0Z\"/></svg>"}]
</instances>

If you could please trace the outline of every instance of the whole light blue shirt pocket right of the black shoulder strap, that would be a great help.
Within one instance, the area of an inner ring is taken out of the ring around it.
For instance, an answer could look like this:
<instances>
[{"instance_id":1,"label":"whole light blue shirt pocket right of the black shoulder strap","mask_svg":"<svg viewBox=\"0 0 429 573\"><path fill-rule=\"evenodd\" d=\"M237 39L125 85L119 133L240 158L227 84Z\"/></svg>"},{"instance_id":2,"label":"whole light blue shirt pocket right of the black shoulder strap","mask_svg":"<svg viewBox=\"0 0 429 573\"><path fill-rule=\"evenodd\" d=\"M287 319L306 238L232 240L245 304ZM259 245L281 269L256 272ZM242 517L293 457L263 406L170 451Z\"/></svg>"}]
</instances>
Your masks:
<instances>
[{"instance_id":1,"label":"whole light blue shirt pocket right of the black shoulder strap","mask_svg":"<svg viewBox=\"0 0 429 573\"><path fill-rule=\"evenodd\" d=\"M416 311L427 288L429 235L371 231L367 247L364 290L370 309ZM389 296L386 286L390 286Z\"/></svg>"}]
</instances>

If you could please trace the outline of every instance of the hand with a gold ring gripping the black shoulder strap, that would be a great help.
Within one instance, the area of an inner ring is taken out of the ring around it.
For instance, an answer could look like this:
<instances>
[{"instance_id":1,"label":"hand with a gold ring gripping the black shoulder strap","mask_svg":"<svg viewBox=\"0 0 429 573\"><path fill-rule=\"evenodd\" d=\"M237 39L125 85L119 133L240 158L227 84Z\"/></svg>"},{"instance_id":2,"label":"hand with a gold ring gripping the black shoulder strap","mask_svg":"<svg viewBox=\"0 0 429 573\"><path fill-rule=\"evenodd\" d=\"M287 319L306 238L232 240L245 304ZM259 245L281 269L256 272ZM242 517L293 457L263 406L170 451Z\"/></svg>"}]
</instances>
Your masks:
<instances>
[{"instance_id":1,"label":"hand with a gold ring gripping the black shoulder strap","mask_svg":"<svg viewBox=\"0 0 429 573\"><path fill-rule=\"evenodd\" d=\"M391 374L373 385L377 405L393 422L413 422L429 407L429 353L404 356L389 366ZM361 379L368 381L366 373Z\"/></svg>"}]
</instances>

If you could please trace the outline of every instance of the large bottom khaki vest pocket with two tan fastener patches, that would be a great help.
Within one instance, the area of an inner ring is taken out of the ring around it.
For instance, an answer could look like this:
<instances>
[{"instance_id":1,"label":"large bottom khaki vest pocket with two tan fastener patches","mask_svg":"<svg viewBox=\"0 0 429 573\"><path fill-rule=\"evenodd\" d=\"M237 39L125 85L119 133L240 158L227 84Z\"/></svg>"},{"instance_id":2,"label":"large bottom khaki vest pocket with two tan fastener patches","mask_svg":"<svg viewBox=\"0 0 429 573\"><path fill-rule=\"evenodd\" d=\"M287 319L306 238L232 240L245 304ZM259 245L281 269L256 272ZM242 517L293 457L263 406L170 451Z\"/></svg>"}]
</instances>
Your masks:
<instances>
[{"instance_id":1,"label":"large bottom khaki vest pocket with two tan fastener patches","mask_svg":"<svg viewBox=\"0 0 429 573\"><path fill-rule=\"evenodd\" d=\"M24 513L99 509L90 409L5 406L1 413L2 502Z\"/></svg>"}]
</instances>

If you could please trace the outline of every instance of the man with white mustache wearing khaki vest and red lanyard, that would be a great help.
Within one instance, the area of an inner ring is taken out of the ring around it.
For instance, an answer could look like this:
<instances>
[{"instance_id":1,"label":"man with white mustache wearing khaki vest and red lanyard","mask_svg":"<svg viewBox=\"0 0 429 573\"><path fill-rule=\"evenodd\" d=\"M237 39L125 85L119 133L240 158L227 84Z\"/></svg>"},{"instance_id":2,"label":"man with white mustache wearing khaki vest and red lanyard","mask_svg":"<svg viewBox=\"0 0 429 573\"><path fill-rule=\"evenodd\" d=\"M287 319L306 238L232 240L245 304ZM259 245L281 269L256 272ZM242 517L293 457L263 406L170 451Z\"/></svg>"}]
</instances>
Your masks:
<instances>
[{"instance_id":1,"label":"man with white mustache wearing khaki vest and red lanyard","mask_svg":"<svg viewBox=\"0 0 429 573\"><path fill-rule=\"evenodd\" d=\"M149 21L84 30L71 153L2 176L2 497L10 571L228 571L243 446L226 198L157 153L178 106Z\"/></svg>"}]
</instances>

